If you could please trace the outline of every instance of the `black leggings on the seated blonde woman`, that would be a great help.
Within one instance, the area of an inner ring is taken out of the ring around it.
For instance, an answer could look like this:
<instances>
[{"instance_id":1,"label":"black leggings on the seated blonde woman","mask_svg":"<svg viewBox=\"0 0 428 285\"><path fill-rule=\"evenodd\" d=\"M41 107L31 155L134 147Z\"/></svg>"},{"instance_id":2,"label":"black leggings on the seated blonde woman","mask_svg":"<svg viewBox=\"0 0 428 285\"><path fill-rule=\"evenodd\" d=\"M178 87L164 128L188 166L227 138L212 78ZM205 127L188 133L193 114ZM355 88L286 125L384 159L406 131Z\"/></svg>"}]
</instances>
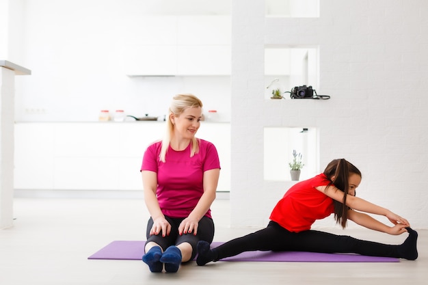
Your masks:
<instances>
[{"instance_id":1,"label":"black leggings on the seated blonde woman","mask_svg":"<svg viewBox=\"0 0 428 285\"><path fill-rule=\"evenodd\" d=\"M159 232L159 234L151 235L150 236L150 229L153 226L153 219L150 217L148 219L147 223L147 229L146 229L146 243L152 241L154 243L157 243L160 247L162 247L163 251L167 249L170 245L179 245L180 243L190 243L192 247L191 252L191 259L195 258L196 256L196 245L198 245L198 241L206 241L208 243L211 243L213 241L214 237L214 222L213 219L209 217L202 217L198 223L198 233L193 235L191 234L178 234L178 226L180 226L181 221L185 218L172 218L165 216L165 219L170 223L171 225L171 233L169 236L162 236L162 232Z\"/></svg>"}]
</instances>

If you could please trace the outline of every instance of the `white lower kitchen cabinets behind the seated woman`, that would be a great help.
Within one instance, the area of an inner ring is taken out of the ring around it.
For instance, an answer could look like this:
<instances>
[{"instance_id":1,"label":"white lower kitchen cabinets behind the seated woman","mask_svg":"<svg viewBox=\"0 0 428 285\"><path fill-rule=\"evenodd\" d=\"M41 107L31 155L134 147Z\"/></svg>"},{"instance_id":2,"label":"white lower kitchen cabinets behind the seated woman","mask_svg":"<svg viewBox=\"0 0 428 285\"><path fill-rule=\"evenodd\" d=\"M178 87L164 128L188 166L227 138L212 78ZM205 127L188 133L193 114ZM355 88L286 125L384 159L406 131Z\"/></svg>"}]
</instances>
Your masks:
<instances>
[{"instance_id":1,"label":"white lower kitchen cabinets behind the seated woman","mask_svg":"<svg viewBox=\"0 0 428 285\"><path fill-rule=\"evenodd\" d=\"M230 124L203 122L222 171L218 191L230 191ZM139 172L162 122L16 123L14 188L25 190L142 190Z\"/></svg>"}]
</instances>

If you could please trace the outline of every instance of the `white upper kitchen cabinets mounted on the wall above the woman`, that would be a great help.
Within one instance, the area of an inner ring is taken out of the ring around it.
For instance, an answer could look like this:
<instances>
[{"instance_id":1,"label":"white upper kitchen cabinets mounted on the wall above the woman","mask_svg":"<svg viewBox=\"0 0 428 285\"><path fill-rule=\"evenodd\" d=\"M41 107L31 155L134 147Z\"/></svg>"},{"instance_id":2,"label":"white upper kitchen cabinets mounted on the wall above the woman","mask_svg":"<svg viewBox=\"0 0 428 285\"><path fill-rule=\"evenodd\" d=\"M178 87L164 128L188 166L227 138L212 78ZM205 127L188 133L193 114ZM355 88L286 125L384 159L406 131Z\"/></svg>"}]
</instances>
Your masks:
<instances>
[{"instance_id":1,"label":"white upper kitchen cabinets mounted on the wall above the woman","mask_svg":"<svg viewBox=\"0 0 428 285\"><path fill-rule=\"evenodd\" d=\"M230 75L230 16L155 18L124 44L127 75Z\"/></svg>"}]
</instances>

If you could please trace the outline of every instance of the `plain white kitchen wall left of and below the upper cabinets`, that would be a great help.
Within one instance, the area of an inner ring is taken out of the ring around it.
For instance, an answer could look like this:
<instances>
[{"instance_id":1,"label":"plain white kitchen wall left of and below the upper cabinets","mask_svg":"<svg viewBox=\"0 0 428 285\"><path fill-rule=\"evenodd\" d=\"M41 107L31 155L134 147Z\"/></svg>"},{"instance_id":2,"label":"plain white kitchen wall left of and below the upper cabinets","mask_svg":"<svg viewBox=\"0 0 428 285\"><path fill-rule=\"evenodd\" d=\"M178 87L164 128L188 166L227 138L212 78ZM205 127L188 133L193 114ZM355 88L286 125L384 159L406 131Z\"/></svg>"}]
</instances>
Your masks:
<instances>
[{"instance_id":1,"label":"plain white kitchen wall left of and below the upper cabinets","mask_svg":"<svg viewBox=\"0 0 428 285\"><path fill-rule=\"evenodd\" d=\"M172 96L181 92L196 94L206 111L217 109L221 120L230 121L228 76L129 77L124 70L126 44L153 29L144 17L181 13L183 7L196 14L191 8L203 3L193 2L25 1L25 32L14 32L23 35L22 64L32 75L17 80L16 121L95 121L101 109L163 116ZM223 5L228 1L204 3L213 13L228 12Z\"/></svg>"}]
</instances>

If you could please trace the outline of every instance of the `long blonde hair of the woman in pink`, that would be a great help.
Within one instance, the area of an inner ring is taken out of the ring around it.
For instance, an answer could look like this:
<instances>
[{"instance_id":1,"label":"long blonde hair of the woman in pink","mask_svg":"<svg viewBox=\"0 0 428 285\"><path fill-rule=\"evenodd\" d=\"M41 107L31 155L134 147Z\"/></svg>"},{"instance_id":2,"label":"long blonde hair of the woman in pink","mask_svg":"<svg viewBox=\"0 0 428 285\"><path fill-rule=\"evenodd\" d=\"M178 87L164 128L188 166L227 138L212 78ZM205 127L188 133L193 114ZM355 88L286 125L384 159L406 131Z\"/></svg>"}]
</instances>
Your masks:
<instances>
[{"instance_id":1,"label":"long blonde hair of the woman in pink","mask_svg":"<svg viewBox=\"0 0 428 285\"><path fill-rule=\"evenodd\" d=\"M166 121L167 129L165 137L163 137L162 139L162 148L161 153L159 154L159 159L161 159L163 163L165 163L165 156L168 152L168 147L170 146L171 137L174 134L174 124L172 124L171 122L171 114L174 114L174 116L180 116L181 113L192 107L202 108L202 101L193 94L178 94L172 98L172 103L170 105L170 109L168 110L168 120ZM191 139L190 157L193 157L193 155L198 152L198 139L196 139L196 137L193 137L193 139Z\"/></svg>"}]
</instances>

